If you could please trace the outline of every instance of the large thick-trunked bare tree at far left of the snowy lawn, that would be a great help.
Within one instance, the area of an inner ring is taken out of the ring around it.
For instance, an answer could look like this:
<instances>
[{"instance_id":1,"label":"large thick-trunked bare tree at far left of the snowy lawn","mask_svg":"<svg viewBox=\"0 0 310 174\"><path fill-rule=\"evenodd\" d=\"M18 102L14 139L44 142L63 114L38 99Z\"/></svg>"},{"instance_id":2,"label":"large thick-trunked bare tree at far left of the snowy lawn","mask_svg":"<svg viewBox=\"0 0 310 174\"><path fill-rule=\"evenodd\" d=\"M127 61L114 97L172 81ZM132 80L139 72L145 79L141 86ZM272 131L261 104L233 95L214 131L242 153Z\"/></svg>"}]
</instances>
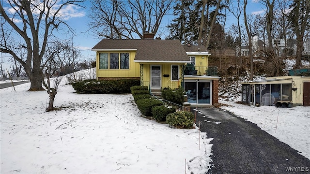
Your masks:
<instances>
[{"instance_id":1,"label":"large thick-trunked bare tree at far left of the snowy lawn","mask_svg":"<svg viewBox=\"0 0 310 174\"><path fill-rule=\"evenodd\" d=\"M0 51L12 55L23 66L31 82L29 90L44 90L41 63L47 42L53 31L60 29L61 25L67 26L62 20L61 10L79 2L83 0L8 0L5 2L7 7L1 2L4 22L1 20ZM18 39L14 40L14 37ZM22 49L27 53L25 59L17 55Z\"/></svg>"}]
</instances>

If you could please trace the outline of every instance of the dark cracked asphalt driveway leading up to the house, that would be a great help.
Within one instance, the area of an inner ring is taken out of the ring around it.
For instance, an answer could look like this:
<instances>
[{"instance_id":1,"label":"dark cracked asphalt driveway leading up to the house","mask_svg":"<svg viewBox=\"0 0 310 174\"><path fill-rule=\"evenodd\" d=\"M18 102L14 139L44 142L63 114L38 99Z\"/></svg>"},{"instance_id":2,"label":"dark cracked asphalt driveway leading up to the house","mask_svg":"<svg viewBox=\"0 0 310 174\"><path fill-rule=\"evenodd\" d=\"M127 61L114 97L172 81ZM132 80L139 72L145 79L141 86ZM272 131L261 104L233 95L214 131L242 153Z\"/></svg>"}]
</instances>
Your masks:
<instances>
[{"instance_id":1,"label":"dark cracked asphalt driveway leading up to the house","mask_svg":"<svg viewBox=\"0 0 310 174\"><path fill-rule=\"evenodd\" d=\"M219 108L198 108L196 123L211 141L208 174L309 174L310 160L256 124ZM192 109L192 112L195 111Z\"/></svg>"}]
</instances>

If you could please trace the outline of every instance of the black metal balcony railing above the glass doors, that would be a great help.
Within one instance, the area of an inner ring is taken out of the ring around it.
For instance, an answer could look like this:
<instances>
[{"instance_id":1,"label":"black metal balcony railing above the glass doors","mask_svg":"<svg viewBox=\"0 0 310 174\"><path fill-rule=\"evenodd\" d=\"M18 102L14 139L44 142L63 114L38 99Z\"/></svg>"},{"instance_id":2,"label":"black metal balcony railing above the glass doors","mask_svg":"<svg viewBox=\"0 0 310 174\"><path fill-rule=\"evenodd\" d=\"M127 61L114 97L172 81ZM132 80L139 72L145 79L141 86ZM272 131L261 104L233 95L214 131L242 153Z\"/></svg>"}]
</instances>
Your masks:
<instances>
[{"instance_id":1,"label":"black metal balcony railing above the glass doors","mask_svg":"<svg viewBox=\"0 0 310 174\"><path fill-rule=\"evenodd\" d=\"M217 67L200 67L200 66L191 66L185 68L185 75L208 75L208 76L217 76Z\"/></svg>"}]
</instances>

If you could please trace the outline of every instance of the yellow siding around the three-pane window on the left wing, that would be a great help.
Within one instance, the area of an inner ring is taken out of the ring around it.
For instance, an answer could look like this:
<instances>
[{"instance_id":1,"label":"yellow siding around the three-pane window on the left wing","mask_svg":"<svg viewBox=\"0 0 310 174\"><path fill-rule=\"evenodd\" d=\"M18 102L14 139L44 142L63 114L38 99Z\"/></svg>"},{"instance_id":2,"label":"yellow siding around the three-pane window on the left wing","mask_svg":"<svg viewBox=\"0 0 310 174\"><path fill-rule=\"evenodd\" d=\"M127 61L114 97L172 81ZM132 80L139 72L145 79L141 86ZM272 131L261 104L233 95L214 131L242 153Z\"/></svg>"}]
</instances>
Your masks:
<instances>
[{"instance_id":1,"label":"yellow siding around the three-pane window on the left wing","mask_svg":"<svg viewBox=\"0 0 310 174\"><path fill-rule=\"evenodd\" d=\"M99 69L99 53L128 53L129 52L129 70L100 70ZM96 69L98 77L140 77L140 64L134 62L135 51L115 51L115 52L97 52L96 54Z\"/></svg>"}]
</instances>

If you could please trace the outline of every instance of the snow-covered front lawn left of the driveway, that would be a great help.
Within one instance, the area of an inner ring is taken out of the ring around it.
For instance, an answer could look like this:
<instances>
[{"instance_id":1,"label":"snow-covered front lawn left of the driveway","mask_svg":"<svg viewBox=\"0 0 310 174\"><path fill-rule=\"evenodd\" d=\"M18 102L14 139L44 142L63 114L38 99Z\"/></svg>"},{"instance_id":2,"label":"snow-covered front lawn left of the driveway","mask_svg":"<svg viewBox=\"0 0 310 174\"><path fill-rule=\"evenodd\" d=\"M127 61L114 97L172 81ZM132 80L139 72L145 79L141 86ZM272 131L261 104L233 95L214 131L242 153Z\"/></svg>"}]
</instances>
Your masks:
<instances>
[{"instance_id":1,"label":"snow-covered front lawn left of the driveway","mask_svg":"<svg viewBox=\"0 0 310 174\"><path fill-rule=\"evenodd\" d=\"M29 87L0 90L1 174L203 174L210 166L212 138L141 117L131 94L77 95L63 82L61 109L45 112L47 92Z\"/></svg>"}]
</instances>

